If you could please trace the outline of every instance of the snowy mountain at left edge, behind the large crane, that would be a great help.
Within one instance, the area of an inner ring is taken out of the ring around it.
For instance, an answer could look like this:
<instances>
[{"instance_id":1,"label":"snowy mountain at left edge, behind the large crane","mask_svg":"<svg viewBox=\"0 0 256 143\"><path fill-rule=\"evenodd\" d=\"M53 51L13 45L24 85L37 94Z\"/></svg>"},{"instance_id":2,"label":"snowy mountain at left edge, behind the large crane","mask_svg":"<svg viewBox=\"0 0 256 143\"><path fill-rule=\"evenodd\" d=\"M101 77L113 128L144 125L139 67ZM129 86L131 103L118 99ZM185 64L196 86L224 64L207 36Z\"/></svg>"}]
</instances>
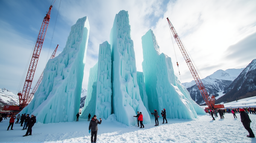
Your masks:
<instances>
[{"instance_id":1,"label":"snowy mountain at left edge, behind the large crane","mask_svg":"<svg viewBox=\"0 0 256 143\"><path fill-rule=\"evenodd\" d=\"M0 88L0 107L4 105L19 105L19 96L5 88Z\"/></svg>"}]
</instances>

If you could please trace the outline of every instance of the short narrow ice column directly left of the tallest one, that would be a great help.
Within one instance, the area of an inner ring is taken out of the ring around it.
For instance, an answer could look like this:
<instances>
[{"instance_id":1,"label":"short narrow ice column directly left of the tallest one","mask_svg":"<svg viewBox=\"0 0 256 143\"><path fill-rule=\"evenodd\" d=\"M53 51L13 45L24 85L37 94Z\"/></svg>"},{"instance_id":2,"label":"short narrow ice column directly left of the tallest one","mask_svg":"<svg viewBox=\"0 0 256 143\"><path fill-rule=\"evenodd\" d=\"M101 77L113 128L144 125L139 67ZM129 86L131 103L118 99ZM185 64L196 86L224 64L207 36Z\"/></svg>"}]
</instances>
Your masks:
<instances>
[{"instance_id":1,"label":"short narrow ice column directly left of the tallest one","mask_svg":"<svg viewBox=\"0 0 256 143\"><path fill-rule=\"evenodd\" d=\"M107 41L99 45L98 79L95 115L107 119L111 115L111 48Z\"/></svg>"}]
</instances>

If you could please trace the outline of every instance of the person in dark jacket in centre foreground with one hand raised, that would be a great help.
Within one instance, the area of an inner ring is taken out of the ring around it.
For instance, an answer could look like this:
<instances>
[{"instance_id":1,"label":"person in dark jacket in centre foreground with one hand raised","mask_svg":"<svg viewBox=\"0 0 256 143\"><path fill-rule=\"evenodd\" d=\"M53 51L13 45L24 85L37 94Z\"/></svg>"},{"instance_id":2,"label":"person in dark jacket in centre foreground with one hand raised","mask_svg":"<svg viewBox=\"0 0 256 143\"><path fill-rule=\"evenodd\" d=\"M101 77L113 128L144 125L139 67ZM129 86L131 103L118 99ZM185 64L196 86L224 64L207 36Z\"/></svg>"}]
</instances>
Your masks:
<instances>
[{"instance_id":1,"label":"person in dark jacket in centre foreground with one hand raised","mask_svg":"<svg viewBox=\"0 0 256 143\"><path fill-rule=\"evenodd\" d=\"M92 133L91 133L91 143L96 143L97 132L98 132L98 124L101 124L101 122L102 122L102 119L101 118L99 118L99 119L100 119L100 121L97 119L96 115L93 115L93 118L90 121L89 133L92 131ZM93 140L93 135L94 135L94 140Z\"/></svg>"}]
</instances>

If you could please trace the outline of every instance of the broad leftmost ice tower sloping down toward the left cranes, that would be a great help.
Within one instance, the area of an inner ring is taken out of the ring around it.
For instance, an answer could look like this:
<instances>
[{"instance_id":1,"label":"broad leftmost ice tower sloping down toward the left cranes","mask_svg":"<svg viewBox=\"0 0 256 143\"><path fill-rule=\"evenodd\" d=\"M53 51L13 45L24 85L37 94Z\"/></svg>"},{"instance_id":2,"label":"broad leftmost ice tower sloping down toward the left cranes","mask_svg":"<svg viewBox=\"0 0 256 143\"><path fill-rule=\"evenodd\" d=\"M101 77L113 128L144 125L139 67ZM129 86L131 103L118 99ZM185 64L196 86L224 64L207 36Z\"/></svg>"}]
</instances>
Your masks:
<instances>
[{"instance_id":1,"label":"broad leftmost ice tower sloping down toward the left cranes","mask_svg":"<svg viewBox=\"0 0 256 143\"><path fill-rule=\"evenodd\" d=\"M38 122L72 122L79 112L84 62L90 26L87 17L71 27L63 51L50 59L31 103L20 114L34 114Z\"/></svg>"}]
</instances>

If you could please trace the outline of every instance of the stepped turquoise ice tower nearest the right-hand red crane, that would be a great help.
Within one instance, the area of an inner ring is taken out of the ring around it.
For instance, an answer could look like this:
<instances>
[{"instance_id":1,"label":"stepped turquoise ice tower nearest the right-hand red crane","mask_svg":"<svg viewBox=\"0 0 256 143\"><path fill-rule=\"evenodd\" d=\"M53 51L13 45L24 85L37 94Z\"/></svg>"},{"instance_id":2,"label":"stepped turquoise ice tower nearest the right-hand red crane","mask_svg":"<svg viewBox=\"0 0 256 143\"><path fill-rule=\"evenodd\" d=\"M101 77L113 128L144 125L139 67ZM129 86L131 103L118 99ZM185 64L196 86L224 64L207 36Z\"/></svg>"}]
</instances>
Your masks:
<instances>
[{"instance_id":1,"label":"stepped turquoise ice tower nearest the right-hand red crane","mask_svg":"<svg viewBox=\"0 0 256 143\"><path fill-rule=\"evenodd\" d=\"M151 112L166 109L167 118L193 119L204 110L192 100L189 92L177 79L172 67L172 60L160 47L150 29L142 36L143 74L148 108Z\"/></svg>"}]
</instances>

